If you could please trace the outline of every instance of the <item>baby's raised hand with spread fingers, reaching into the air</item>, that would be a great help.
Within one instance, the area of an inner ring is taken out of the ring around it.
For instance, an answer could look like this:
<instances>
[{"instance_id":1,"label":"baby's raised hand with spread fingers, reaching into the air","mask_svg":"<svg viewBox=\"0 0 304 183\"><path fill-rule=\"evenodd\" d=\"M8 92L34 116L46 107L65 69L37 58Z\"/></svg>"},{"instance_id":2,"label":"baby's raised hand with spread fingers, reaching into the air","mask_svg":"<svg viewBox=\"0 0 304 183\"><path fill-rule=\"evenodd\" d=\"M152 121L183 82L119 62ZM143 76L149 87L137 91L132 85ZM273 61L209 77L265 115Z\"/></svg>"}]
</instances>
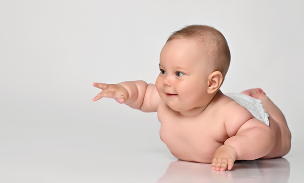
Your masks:
<instances>
[{"instance_id":1,"label":"baby's raised hand with spread fingers, reaching into the air","mask_svg":"<svg viewBox=\"0 0 304 183\"><path fill-rule=\"evenodd\" d=\"M101 89L102 91L93 98L93 101L97 101L103 97L114 98L120 104L125 103L129 98L127 89L119 84L105 84L105 83L93 83L93 86Z\"/></svg>"}]
</instances>

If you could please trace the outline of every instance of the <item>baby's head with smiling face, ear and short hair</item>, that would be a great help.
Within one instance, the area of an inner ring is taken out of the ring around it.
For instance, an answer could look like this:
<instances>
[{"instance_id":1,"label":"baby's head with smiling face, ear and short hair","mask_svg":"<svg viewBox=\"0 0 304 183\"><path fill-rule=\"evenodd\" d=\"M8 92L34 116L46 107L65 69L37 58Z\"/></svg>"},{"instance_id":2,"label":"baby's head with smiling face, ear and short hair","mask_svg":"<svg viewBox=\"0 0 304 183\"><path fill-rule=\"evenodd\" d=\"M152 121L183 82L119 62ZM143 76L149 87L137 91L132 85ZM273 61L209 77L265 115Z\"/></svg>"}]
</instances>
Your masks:
<instances>
[{"instance_id":1,"label":"baby's head with smiling face, ear and short hair","mask_svg":"<svg viewBox=\"0 0 304 183\"><path fill-rule=\"evenodd\" d=\"M207 106L219 91L229 63L229 48L219 31L188 26L174 32L164 45L156 89L169 108L191 113Z\"/></svg>"}]
</instances>

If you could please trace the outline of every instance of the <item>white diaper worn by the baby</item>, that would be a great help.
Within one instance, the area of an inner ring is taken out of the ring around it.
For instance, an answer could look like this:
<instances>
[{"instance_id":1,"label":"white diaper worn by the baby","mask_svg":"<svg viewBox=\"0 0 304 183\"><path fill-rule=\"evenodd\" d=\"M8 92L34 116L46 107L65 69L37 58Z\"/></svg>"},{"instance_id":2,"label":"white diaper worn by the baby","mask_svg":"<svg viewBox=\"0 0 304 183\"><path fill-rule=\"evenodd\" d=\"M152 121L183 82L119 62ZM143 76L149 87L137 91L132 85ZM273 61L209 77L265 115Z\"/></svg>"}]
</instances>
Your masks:
<instances>
[{"instance_id":1,"label":"white diaper worn by the baby","mask_svg":"<svg viewBox=\"0 0 304 183\"><path fill-rule=\"evenodd\" d=\"M269 114L263 108L261 100L242 93L226 93L225 95L234 99L239 105L249 110L256 119L269 126Z\"/></svg>"}]
</instances>

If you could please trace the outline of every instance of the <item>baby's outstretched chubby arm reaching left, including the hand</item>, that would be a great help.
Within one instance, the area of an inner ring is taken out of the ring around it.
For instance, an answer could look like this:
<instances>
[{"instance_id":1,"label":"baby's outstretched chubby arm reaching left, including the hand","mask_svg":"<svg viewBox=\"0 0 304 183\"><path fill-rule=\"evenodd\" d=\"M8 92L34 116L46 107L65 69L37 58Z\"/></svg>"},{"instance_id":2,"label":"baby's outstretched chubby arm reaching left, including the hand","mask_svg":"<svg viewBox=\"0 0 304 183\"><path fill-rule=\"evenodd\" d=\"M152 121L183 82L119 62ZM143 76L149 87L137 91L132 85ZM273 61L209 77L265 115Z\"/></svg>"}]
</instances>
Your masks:
<instances>
[{"instance_id":1,"label":"baby's outstretched chubby arm reaching left, including the hand","mask_svg":"<svg viewBox=\"0 0 304 183\"><path fill-rule=\"evenodd\" d=\"M154 112L160 100L154 84L145 81L126 81L118 84L93 83L102 91L93 98L97 101L103 97L113 98L120 104L145 112Z\"/></svg>"}]
</instances>

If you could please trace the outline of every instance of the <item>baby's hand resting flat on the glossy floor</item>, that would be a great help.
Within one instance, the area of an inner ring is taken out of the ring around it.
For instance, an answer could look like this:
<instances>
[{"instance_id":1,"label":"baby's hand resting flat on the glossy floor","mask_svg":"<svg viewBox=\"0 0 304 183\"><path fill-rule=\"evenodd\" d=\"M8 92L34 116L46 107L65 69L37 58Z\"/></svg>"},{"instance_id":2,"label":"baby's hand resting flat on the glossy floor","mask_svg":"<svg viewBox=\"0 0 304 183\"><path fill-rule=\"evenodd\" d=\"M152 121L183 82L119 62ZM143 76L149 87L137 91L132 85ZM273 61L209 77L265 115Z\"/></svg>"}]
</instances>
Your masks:
<instances>
[{"instance_id":1,"label":"baby's hand resting flat on the glossy floor","mask_svg":"<svg viewBox=\"0 0 304 183\"><path fill-rule=\"evenodd\" d=\"M231 170L236 161L236 150L232 146L222 145L214 153L211 168L217 171Z\"/></svg>"}]
</instances>

